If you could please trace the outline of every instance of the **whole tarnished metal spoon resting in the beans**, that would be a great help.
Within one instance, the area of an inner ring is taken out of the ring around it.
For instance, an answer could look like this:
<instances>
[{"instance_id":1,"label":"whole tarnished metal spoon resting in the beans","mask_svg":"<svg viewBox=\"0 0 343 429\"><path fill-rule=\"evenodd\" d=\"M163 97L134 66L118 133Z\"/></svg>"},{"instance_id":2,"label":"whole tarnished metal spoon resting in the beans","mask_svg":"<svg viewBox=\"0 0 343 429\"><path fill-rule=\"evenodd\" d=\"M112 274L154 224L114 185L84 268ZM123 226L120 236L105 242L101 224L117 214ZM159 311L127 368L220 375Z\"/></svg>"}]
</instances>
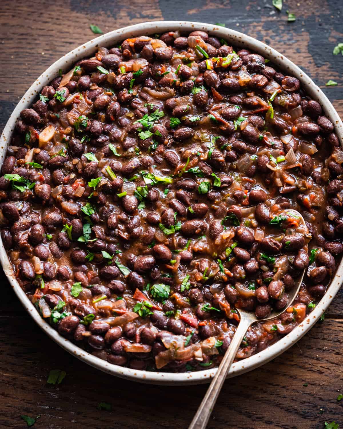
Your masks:
<instances>
[{"instance_id":1,"label":"whole tarnished metal spoon resting in the beans","mask_svg":"<svg viewBox=\"0 0 343 429\"><path fill-rule=\"evenodd\" d=\"M301 214L296 210L284 210L281 213L279 213L279 215L285 215L286 217L287 215L289 215L296 219L300 218L301 224L299 225L297 232L302 233L304 235L305 241L306 241L305 248L307 249L307 242L309 241L311 235L307 229L304 218L301 216ZM204 399L202 400L202 403L200 404L198 411L196 412L196 415L194 416L192 423L190 424L188 429L205 429L208 423L208 419L210 418L214 405L217 401L220 390L226 379L226 375L230 369L230 366L233 360L235 359L237 350L249 326L256 321L266 322L267 320L272 320L280 316L280 314L282 314L286 310L286 308L288 308L292 304L295 297L298 295L301 282L304 278L305 270L306 268L304 268L303 272L299 275L297 281L295 282L295 285L292 291L289 293L288 303L282 311L278 311L278 312L273 311L270 314L270 316L266 317L265 319L258 319L255 313L236 308L236 310L238 311L238 314L241 317L241 320L238 324L235 335L232 338L230 346L228 350L226 350L223 360L221 361L220 366L217 369L217 373L214 376L213 380L211 381L211 384L208 387L208 390L204 396Z\"/></svg>"}]
</instances>

